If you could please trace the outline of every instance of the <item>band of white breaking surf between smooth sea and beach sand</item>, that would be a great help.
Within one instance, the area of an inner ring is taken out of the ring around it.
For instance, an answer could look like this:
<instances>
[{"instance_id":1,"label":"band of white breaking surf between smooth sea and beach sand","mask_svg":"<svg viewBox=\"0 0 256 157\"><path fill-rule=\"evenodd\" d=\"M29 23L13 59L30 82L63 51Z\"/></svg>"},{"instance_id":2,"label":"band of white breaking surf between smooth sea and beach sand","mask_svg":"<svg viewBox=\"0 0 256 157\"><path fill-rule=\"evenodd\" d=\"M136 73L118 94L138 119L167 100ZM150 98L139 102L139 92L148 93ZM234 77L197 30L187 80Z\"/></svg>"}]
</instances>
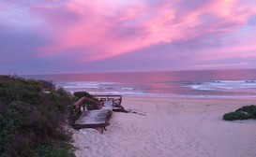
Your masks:
<instances>
[{"instance_id":1,"label":"band of white breaking surf between smooth sea and beach sand","mask_svg":"<svg viewBox=\"0 0 256 157\"><path fill-rule=\"evenodd\" d=\"M170 81L166 81L163 85L159 86L156 85L156 82L152 84L148 83L131 85L126 83L107 81L56 82L55 85L57 87L64 88L70 93L85 91L92 94L122 94L132 96L159 96L173 98L256 97L256 80L208 80L172 82L173 83L170 84ZM172 91L169 89L174 90Z\"/></svg>"}]
</instances>

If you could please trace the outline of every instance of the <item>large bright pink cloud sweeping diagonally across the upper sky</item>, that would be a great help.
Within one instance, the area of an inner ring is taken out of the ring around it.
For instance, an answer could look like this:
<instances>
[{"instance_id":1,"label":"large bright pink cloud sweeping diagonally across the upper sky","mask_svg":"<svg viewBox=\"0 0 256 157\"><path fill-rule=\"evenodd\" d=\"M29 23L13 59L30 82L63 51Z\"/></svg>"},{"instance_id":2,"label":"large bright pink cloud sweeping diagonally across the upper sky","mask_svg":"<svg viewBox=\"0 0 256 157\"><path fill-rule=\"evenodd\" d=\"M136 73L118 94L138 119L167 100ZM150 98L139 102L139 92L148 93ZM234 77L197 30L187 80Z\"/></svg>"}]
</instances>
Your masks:
<instances>
[{"instance_id":1,"label":"large bright pink cloud sweeping diagonally across the upper sky","mask_svg":"<svg viewBox=\"0 0 256 157\"><path fill-rule=\"evenodd\" d=\"M209 1L181 15L177 14L181 11L177 3L164 2L148 11L145 1L117 2L74 0L34 10L53 34L53 45L42 49L44 53L55 55L80 48L86 51L85 61L98 60L205 34L223 36L245 25L256 13L256 7L235 0ZM216 22L204 22L201 17L205 14L215 17Z\"/></svg>"}]
</instances>

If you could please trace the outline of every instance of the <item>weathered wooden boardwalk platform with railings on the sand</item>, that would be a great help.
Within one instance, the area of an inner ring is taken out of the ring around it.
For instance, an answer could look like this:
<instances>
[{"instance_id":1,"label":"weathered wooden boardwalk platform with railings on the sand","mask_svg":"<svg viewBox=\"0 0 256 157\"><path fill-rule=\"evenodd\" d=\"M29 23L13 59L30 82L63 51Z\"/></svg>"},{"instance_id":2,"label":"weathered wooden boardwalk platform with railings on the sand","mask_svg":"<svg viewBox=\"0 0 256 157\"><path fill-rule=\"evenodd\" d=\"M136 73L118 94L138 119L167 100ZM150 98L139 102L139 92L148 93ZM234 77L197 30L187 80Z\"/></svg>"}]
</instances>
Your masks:
<instances>
[{"instance_id":1,"label":"weathered wooden boardwalk platform with railings on the sand","mask_svg":"<svg viewBox=\"0 0 256 157\"><path fill-rule=\"evenodd\" d=\"M94 99L83 96L73 105L76 120L73 123L75 129L95 128L103 133L109 125L113 110L124 109L121 106L121 95L95 95ZM98 109L88 110L87 105L94 104Z\"/></svg>"}]
</instances>

